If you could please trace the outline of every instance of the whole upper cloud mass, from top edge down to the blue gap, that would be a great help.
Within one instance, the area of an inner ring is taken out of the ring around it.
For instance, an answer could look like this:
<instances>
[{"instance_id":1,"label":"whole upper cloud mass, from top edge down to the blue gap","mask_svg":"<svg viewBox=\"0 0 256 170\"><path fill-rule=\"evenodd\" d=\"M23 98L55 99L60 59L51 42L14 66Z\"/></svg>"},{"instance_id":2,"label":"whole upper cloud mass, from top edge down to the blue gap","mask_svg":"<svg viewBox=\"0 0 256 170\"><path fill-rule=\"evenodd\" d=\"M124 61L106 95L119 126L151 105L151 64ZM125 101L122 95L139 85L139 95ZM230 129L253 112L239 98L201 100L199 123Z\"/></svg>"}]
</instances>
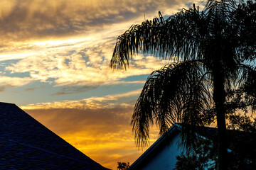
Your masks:
<instances>
[{"instance_id":1,"label":"whole upper cloud mass, from top edge down to the blue gap","mask_svg":"<svg viewBox=\"0 0 256 170\"><path fill-rule=\"evenodd\" d=\"M150 74L171 61L138 55L127 72L114 72L109 62L117 36L144 21L144 14L151 19L158 11L175 13L186 2L1 1L0 61L18 60L4 69L63 86L55 96L111 84L141 84L122 79Z\"/></svg>"}]
</instances>

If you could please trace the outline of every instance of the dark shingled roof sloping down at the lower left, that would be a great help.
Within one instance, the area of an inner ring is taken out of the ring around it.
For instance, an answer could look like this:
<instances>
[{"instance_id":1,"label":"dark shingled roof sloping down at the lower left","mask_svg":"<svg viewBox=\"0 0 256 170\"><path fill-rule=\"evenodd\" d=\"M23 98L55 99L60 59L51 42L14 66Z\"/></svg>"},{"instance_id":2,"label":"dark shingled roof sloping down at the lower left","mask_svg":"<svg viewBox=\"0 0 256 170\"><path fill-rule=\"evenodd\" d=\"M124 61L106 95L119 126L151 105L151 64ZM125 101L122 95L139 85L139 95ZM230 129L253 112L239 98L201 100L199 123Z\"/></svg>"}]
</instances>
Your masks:
<instances>
[{"instance_id":1,"label":"dark shingled roof sloping down at the lower left","mask_svg":"<svg viewBox=\"0 0 256 170\"><path fill-rule=\"evenodd\" d=\"M106 169L18 108L0 103L0 169Z\"/></svg>"}]
</instances>

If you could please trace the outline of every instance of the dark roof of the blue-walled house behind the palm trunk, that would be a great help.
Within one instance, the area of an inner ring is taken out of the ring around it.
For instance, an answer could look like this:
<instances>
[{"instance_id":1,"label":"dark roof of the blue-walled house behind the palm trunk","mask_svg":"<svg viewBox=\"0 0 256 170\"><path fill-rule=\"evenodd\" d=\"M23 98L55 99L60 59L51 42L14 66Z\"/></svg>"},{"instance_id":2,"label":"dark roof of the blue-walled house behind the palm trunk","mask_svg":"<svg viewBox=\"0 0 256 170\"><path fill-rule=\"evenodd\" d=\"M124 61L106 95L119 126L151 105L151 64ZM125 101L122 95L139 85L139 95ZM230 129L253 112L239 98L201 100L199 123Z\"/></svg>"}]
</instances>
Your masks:
<instances>
[{"instance_id":1,"label":"dark roof of the blue-walled house behind the palm trunk","mask_svg":"<svg viewBox=\"0 0 256 170\"><path fill-rule=\"evenodd\" d=\"M196 127L195 131L201 137L205 137L208 140L212 140L216 142L216 135L218 132L217 128L210 128L210 127ZM154 142L149 149L146 150L131 166L129 169L137 169L137 166L144 162L148 157L151 157L160 147L164 145L170 145L172 137L177 134L177 132L181 132L181 124L174 123L174 125L167 130L164 135L159 137L156 142ZM255 159L255 141L256 141L256 133L242 132L239 130L227 130L227 142L228 148L237 152L242 157L247 157L251 160ZM237 147L242 146L242 147ZM230 151L231 151L230 150ZM241 152L242 150L242 152Z\"/></svg>"}]
</instances>

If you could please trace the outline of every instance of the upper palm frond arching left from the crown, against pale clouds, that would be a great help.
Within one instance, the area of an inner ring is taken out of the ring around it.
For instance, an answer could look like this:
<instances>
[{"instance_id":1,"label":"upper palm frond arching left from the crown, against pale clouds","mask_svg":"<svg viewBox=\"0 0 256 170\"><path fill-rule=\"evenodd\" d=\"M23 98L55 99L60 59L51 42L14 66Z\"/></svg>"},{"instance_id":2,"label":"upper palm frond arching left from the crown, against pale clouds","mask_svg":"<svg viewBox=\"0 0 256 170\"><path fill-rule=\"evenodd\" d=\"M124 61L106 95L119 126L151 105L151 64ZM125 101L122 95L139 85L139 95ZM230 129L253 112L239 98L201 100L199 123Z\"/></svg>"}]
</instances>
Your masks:
<instances>
[{"instance_id":1,"label":"upper palm frond arching left from the crown, against pale clouds","mask_svg":"<svg viewBox=\"0 0 256 170\"><path fill-rule=\"evenodd\" d=\"M110 67L126 69L129 60L138 52L153 54L154 56L182 57L183 60L190 56L201 56L198 43L206 32L203 22L204 14L194 6L183 9L164 20L159 12L159 18L145 21L142 25L134 25L117 38Z\"/></svg>"}]
</instances>

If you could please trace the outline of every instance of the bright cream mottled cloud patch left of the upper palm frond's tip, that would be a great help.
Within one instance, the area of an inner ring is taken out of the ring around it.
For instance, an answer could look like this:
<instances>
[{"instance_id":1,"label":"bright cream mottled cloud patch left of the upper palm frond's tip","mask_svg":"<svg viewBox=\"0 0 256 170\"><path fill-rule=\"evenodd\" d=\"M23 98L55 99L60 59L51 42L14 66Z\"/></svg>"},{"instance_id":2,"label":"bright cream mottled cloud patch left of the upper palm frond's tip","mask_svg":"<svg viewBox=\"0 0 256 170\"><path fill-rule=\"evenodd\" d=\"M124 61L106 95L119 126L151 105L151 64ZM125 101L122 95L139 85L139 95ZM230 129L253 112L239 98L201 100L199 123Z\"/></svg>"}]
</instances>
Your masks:
<instances>
[{"instance_id":1,"label":"bright cream mottled cloud patch left of the upper palm frond's tip","mask_svg":"<svg viewBox=\"0 0 256 170\"><path fill-rule=\"evenodd\" d=\"M28 73L34 81L67 86L55 94L60 95L88 89L83 87L95 89L97 86L126 84L125 81L119 80L134 75L150 74L170 62L138 55L134 57L126 72L114 71L109 67L114 40L99 40L97 36L79 42L60 42L57 46L55 43L46 42L47 48L43 49L40 49L41 44L34 44L33 51L38 50L36 55L20 58L18 62L5 69L11 73ZM142 84L142 81L127 81L127 84L138 83ZM75 86L81 86L81 88Z\"/></svg>"}]
</instances>

